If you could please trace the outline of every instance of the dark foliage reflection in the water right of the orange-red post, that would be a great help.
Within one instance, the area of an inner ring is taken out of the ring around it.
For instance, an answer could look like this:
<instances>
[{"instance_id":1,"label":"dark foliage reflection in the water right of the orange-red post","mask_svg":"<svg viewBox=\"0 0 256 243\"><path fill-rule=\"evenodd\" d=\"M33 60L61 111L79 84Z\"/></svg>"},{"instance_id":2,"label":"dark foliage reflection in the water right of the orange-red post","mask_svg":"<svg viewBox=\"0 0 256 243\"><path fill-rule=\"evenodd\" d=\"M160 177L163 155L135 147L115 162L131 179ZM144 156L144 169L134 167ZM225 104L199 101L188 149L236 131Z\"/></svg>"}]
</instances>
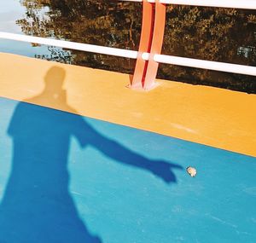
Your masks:
<instances>
[{"instance_id":1,"label":"dark foliage reflection in the water right of the orange-red post","mask_svg":"<svg viewBox=\"0 0 256 243\"><path fill-rule=\"evenodd\" d=\"M163 52L255 66L256 22L253 22L253 16L256 17L249 10L178 6L167 14ZM246 50L247 55L242 55L242 50ZM175 73L176 79L192 84L256 92L254 77L163 65L160 76L165 77L169 73ZM194 81L191 82L191 78Z\"/></svg>"}]
</instances>

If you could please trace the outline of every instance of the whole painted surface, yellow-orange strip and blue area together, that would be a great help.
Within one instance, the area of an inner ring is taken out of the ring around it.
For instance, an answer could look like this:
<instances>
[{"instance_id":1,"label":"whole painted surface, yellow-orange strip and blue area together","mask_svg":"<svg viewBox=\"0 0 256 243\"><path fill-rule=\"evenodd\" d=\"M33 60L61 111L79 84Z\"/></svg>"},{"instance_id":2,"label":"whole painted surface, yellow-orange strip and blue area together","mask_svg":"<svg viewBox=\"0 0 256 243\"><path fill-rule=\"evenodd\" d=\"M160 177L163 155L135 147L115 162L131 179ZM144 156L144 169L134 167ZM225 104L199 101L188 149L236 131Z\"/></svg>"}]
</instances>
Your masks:
<instances>
[{"instance_id":1,"label":"whole painted surface, yellow-orange strip and blue area together","mask_svg":"<svg viewBox=\"0 0 256 243\"><path fill-rule=\"evenodd\" d=\"M1 243L256 241L256 95L158 83L0 54Z\"/></svg>"}]
</instances>

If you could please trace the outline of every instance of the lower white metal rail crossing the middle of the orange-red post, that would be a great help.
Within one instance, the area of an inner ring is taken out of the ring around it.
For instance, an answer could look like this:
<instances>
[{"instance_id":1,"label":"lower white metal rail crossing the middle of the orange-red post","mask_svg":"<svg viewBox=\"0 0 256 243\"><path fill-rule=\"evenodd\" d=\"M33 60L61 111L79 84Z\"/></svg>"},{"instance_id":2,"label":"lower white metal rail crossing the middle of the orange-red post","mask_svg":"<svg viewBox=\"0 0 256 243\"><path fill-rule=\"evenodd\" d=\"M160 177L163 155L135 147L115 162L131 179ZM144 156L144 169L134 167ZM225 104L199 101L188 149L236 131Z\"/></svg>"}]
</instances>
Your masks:
<instances>
[{"instance_id":1,"label":"lower white metal rail crossing the middle of the orange-red post","mask_svg":"<svg viewBox=\"0 0 256 243\"><path fill-rule=\"evenodd\" d=\"M37 38L37 37L13 34L8 32L0 32L0 38L21 41L26 43L53 45L56 47L61 47L66 49L76 49L76 50L82 50L82 51L93 52L98 54L127 57L131 59L137 59L137 56L138 56L138 52L135 50L102 47L102 46L93 45L93 44L74 43L74 42L55 40L50 38ZM239 74L256 76L256 67L230 64L230 63L218 62L218 61L204 61L199 59L178 57L173 55L154 55L152 58L154 59L154 61L157 61L160 63L178 65L183 67L196 67L196 68L203 68L203 69L209 69L209 70L215 70L215 71L221 71L221 72L234 72ZM149 59L149 53L143 53L143 60L146 61L148 59Z\"/></svg>"}]
</instances>

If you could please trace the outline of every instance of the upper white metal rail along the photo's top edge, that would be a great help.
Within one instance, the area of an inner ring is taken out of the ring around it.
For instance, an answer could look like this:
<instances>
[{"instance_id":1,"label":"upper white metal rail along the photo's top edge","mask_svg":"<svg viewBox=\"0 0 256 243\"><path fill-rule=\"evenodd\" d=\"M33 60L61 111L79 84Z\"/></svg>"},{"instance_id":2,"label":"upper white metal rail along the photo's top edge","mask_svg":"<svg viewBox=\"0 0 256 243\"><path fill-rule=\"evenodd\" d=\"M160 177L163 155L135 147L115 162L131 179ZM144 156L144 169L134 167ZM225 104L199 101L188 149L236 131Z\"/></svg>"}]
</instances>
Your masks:
<instances>
[{"instance_id":1,"label":"upper white metal rail along the photo's top edge","mask_svg":"<svg viewBox=\"0 0 256 243\"><path fill-rule=\"evenodd\" d=\"M143 2L143 0L120 0L124 2ZM148 0L148 3L166 3L190 6L234 8L234 9L256 9L255 0Z\"/></svg>"}]
</instances>

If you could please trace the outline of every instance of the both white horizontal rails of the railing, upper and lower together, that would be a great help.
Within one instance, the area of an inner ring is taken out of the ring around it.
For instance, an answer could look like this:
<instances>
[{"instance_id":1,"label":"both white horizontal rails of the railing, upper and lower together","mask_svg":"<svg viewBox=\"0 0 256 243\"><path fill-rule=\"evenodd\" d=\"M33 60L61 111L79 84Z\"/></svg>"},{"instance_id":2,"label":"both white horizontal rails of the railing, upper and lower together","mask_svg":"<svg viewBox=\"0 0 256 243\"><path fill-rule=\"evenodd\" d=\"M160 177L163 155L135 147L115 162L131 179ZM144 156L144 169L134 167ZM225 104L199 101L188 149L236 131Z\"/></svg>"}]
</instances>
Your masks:
<instances>
[{"instance_id":1,"label":"both white horizontal rails of the railing, upper and lower together","mask_svg":"<svg viewBox=\"0 0 256 243\"><path fill-rule=\"evenodd\" d=\"M143 0L121 0L125 2L143 2ZM206 7L221 7L221 8L236 8L236 9L256 9L256 0L148 0L149 3L166 3L166 4L182 4L193 6L206 6ZM104 55L115 55L126 58L137 59L138 52L128 49L117 49L110 47L103 47L86 43L75 43L69 41L55 40L50 38L37 38L25 36L20 34L13 34L8 32L0 32L0 38L22 41L26 43L38 43L45 45L53 45L66 49L76 49L87 52L93 52ZM178 57L172 55L154 55L150 56L154 61L184 67L196 67L221 72L234 72L240 74L247 74L256 76L256 67L230 64L218 61L204 61L193 58ZM148 60L149 54L143 53L143 60Z\"/></svg>"}]
</instances>

